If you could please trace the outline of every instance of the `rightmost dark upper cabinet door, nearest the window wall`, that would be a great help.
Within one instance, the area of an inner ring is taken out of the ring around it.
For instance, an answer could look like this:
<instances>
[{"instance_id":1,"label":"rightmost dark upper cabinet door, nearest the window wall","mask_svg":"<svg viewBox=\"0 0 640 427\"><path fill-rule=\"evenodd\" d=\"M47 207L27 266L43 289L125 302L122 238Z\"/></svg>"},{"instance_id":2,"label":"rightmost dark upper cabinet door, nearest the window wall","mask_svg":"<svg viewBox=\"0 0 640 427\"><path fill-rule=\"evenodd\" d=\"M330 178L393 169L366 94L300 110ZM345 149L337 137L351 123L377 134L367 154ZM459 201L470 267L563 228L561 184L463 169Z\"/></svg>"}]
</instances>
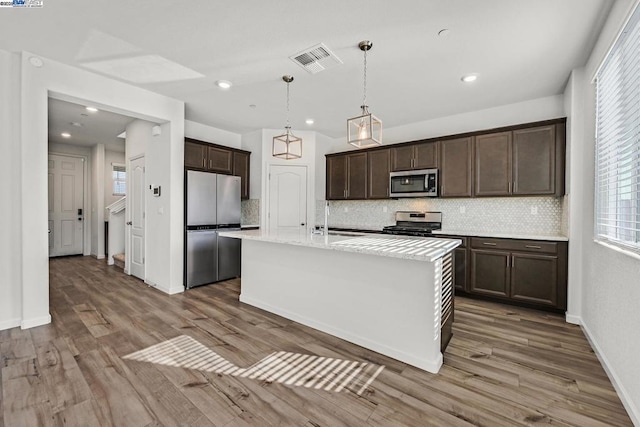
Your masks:
<instances>
[{"instance_id":1,"label":"rightmost dark upper cabinet door, nearest the window wall","mask_svg":"<svg viewBox=\"0 0 640 427\"><path fill-rule=\"evenodd\" d=\"M513 194L555 194L556 129L513 131Z\"/></svg>"}]
</instances>

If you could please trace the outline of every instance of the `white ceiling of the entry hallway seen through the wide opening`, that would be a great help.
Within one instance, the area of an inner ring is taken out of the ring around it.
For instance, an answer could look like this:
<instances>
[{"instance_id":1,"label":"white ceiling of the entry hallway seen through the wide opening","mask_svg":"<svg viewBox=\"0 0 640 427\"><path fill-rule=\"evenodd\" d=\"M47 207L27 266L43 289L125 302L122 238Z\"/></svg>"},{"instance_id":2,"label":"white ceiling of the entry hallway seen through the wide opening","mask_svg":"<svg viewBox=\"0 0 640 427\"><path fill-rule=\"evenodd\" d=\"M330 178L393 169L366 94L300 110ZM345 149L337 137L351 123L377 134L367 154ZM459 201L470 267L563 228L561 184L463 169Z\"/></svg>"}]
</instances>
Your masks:
<instances>
[{"instance_id":1,"label":"white ceiling of the entry hallway seen through the wide opening","mask_svg":"<svg viewBox=\"0 0 640 427\"><path fill-rule=\"evenodd\" d=\"M49 142L84 147L104 144L105 150L124 153L125 140L118 135L135 118L103 110L90 112L86 107L49 98ZM71 137L64 138L63 132Z\"/></svg>"}]
</instances>

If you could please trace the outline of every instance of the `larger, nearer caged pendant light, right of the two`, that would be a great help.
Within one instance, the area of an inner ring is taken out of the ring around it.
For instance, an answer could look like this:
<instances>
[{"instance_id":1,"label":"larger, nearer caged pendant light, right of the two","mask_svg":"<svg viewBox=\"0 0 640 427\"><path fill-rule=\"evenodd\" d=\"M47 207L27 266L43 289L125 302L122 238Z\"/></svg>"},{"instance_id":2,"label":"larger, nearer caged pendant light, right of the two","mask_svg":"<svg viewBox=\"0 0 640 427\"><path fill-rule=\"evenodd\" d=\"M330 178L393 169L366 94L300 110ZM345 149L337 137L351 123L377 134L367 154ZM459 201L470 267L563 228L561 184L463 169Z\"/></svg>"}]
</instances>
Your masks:
<instances>
[{"instance_id":1,"label":"larger, nearer caged pendant light, right of the two","mask_svg":"<svg viewBox=\"0 0 640 427\"><path fill-rule=\"evenodd\" d=\"M367 105L367 51L373 43L363 40L358 44L364 52L364 97L362 100L362 114L347 120L347 142L354 147L366 148L382 144L382 122L369 112Z\"/></svg>"}]
</instances>

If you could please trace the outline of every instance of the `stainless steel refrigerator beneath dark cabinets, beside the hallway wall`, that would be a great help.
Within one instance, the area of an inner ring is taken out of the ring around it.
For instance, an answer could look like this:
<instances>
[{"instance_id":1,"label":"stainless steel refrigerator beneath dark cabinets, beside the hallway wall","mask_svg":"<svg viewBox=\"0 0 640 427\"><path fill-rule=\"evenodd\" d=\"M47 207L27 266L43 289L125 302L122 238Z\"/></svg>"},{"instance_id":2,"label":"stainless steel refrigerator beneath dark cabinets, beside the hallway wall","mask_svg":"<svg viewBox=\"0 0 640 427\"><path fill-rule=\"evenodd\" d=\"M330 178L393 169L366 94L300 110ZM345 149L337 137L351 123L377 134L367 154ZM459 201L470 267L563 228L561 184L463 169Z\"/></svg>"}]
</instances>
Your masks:
<instances>
[{"instance_id":1,"label":"stainless steel refrigerator beneath dark cabinets, beside the hallway wall","mask_svg":"<svg viewBox=\"0 0 640 427\"><path fill-rule=\"evenodd\" d=\"M187 171L185 288L240 276L240 240L218 235L239 229L240 177Z\"/></svg>"}]
</instances>

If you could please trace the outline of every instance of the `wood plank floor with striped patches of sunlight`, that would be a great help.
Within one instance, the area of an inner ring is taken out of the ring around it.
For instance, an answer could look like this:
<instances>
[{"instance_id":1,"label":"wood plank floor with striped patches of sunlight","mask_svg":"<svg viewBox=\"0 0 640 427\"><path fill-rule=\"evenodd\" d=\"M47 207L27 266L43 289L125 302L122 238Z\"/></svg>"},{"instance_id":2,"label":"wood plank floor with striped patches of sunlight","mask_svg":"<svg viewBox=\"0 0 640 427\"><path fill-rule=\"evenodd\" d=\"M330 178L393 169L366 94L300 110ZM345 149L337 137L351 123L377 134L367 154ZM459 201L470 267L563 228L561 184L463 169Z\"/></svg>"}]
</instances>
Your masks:
<instances>
[{"instance_id":1,"label":"wood plank floor with striped patches of sunlight","mask_svg":"<svg viewBox=\"0 0 640 427\"><path fill-rule=\"evenodd\" d=\"M434 375L241 304L239 280L168 296L93 258L49 266L52 323L0 331L0 427L632 425L580 328L558 315L456 298ZM287 378L245 369L274 352L296 355ZM384 369L367 384L371 372L300 354Z\"/></svg>"}]
</instances>

